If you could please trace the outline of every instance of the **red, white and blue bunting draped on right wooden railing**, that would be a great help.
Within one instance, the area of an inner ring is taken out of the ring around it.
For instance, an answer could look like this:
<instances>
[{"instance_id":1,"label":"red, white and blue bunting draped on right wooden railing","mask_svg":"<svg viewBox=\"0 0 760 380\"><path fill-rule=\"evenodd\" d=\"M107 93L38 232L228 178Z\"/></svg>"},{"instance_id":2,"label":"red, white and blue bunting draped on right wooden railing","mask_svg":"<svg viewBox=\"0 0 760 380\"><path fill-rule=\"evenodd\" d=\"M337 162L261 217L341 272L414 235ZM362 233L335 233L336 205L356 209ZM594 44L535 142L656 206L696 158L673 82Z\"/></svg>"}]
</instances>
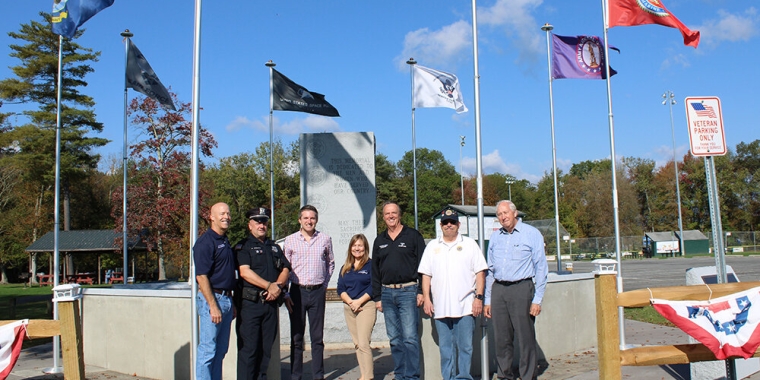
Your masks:
<instances>
[{"instance_id":1,"label":"red, white and blue bunting draped on right wooden railing","mask_svg":"<svg viewBox=\"0 0 760 380\"><path fill-rule=\"evenodd\" d=\"M760 288L710 301L652 299L667 320L700 341L719 360L752 357L760 347Z\"/></svg>"}]
</instances>

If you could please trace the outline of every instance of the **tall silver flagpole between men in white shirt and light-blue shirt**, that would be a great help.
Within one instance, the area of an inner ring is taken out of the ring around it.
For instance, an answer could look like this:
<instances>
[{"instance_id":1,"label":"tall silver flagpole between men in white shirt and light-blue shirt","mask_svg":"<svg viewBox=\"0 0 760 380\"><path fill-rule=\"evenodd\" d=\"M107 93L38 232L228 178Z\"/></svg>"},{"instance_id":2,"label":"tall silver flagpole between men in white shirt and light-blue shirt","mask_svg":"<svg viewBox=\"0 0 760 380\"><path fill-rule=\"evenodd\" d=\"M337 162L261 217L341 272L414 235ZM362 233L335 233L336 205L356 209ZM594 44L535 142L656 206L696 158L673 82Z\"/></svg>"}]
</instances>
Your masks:
<instances>
[{"instance_id":1,"label":"tall silver flagpole between men in white shirt and light-blue shirt","mask_svg":"<svg viewBox=\"0 0 760 380\"><path fill-rule=\"evenodd\" d=\"M483 147L480 134L480 71L478 68L478 8L476 0L472 0L472 58L473 58L473 81L475 82L475 177L477 183L477 206L478 206L478 243L480 249L485 252L485 227L483 226ZM480 317L480 377L490 379L488 355L488 325L485 316Z\"/></svg>"}]
</instances>

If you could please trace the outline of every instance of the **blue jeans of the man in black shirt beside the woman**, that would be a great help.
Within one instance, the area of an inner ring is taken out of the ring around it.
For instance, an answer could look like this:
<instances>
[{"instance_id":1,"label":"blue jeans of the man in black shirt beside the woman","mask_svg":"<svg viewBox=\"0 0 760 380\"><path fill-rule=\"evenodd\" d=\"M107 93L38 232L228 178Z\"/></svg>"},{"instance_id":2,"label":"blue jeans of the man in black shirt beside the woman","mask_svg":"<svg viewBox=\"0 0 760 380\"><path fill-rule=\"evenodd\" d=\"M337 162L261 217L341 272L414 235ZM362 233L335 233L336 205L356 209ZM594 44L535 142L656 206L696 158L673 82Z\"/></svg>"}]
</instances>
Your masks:
<instances>
[{"instance_id":1,"label":"blue jeans of the man in black shirt beside the woman","mask_svg":"<svg viewBox=\"0 0 760 380\"><path fill-rule=\"evenodd\" d=\"M420 309L417 307L417 285L400 289L383 287L381 301L396 379L419 379L420 339L417 331Z\"/></svg>"}]
</instances>

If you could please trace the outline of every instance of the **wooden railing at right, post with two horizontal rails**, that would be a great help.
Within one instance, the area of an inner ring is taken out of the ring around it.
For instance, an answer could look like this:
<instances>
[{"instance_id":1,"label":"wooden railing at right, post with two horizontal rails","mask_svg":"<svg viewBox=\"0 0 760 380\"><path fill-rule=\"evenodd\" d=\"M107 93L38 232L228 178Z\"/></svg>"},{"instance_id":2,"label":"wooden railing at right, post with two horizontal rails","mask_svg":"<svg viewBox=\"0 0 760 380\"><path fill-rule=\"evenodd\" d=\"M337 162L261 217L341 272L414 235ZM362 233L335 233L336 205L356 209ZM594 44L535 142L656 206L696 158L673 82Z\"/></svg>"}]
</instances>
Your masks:
<instances>
[{"instance_id":1,"label":"wooden railing at right, post with two horizontal rails","mask_svg":"<svg viewBox=\"0 0 760 380\"><path fill-rule=\"evenodd\" d=\"M618 307L643 307L651 298L670 301L708 300L760 286L760 282L732 282L728 284L672 286L667 288L639 289L617 293L615 274L596 275L596 331L598 339L599 378L622 378L621 366L649 366L686 364L717 360L715 354L701 343L671 346L640 346L620 349ZM711 293L712 291L712 293ZM760 356L760 351L754 357Z\"/></svg>"}]
</instances>

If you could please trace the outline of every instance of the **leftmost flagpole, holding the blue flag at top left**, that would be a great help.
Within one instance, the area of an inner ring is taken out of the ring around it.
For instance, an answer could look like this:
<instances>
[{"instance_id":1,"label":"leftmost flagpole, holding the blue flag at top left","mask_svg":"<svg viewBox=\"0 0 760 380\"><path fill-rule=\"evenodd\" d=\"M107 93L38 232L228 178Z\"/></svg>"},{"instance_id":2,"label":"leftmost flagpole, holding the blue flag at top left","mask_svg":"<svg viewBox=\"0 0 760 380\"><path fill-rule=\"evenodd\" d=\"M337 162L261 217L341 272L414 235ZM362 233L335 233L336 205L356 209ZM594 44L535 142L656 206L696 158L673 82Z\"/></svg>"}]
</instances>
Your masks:
<instances>
[{"instance_id":1,"label":"leftmost flagpole, holding the blue flag at top left","mask_svg":"<svg viewBox=\"0 0 760 380\"><path fill-rule=\"evenodd\" d=\"M58 286L58 276L60 271L58 266L60 265L59 256L60 251L58 249L58 235L60 225L60 213L58 209L61 207L61 94L63 86L63 36L58 35L58 94L56 105L56 122L55 122L55 195L53 200L53 288ZM53 319L58 320L58 302L53 302ZM63 368L59 364L59 357L61 356L61 337L59 335L53 336L53 367L45 368L42 370L44 373L61 373Z\"/></svg>"}]
</instances>

